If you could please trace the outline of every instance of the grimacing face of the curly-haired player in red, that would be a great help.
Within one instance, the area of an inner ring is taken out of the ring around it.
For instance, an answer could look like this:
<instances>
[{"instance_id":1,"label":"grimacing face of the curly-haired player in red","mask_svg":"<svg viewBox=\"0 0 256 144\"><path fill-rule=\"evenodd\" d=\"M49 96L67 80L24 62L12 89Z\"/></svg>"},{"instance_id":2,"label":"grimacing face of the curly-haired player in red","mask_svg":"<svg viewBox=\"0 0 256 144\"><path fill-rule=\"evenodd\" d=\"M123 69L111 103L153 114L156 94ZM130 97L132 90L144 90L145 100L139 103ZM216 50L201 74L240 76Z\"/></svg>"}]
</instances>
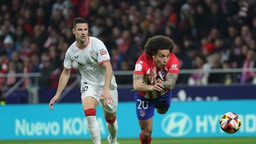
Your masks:
<instances>
[{"instance_id":1,"label":"grimacing face of the curly-haired player in red","mask_svg":"<svg viewBox=\"0 0 256 144\"><path fill-rule=\"evenodd\" d=\"M169 60L170 50L158 50L156 55L153 55L154 65L156 67L165 67Z\"/></svg>"}]
</instances>

